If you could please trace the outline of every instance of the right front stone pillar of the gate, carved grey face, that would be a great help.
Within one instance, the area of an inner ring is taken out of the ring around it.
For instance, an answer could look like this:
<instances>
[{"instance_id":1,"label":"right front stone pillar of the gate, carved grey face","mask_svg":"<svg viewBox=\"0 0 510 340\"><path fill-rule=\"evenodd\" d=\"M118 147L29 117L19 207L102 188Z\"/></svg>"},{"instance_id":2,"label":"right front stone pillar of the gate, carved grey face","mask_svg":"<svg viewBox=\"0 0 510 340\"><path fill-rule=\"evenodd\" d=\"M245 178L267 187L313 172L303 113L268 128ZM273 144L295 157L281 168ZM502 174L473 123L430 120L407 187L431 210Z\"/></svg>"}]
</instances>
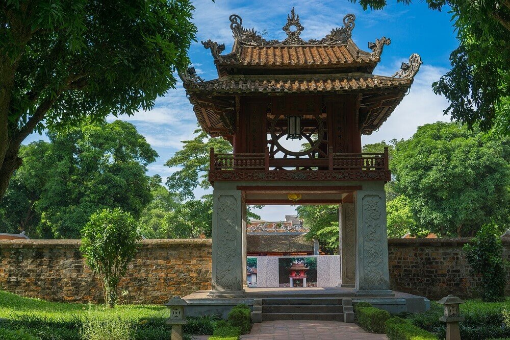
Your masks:
<instances>
[{"instance_id":1,"label":"right front stone pillar of the gate, carved grey face","mask_svg":"<svg viewBox=\"0 0 510 340\"><path fill-rule=\"evenodd\" d=\"M357 239L356 295L392 295L389 290L385 191L355 191L354 204Z\"/></svg>"}]
</instances>

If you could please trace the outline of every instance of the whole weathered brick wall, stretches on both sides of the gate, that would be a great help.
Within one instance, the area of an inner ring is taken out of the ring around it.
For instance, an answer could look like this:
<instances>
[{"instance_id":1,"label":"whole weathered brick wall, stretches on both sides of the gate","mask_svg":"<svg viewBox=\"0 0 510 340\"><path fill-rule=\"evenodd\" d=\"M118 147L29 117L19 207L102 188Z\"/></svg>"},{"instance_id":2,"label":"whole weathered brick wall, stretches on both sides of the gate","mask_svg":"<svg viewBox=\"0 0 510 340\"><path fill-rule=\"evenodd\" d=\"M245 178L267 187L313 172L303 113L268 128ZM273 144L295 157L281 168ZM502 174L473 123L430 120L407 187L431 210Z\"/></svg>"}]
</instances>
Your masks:
<instances>
[{"instance_id":1,"label":"whole weathered brick wall, stretches on both sides of the gate","mask_svg":"<svg viewBox=\"0 0 510 340\"><path fill-rule=\"evenodd\" d=\"M391 288L430 299L476 296L480 280L462 251L468 240L389 239ZM510 261L510 239L503 245ZM0 240L0 289L53 301L101 301L101 283L79 248L79 240ZM144 240L120 289L129 292L123 301L144 304L211 289L211 240Z\"/></svg>"}]
</instances>

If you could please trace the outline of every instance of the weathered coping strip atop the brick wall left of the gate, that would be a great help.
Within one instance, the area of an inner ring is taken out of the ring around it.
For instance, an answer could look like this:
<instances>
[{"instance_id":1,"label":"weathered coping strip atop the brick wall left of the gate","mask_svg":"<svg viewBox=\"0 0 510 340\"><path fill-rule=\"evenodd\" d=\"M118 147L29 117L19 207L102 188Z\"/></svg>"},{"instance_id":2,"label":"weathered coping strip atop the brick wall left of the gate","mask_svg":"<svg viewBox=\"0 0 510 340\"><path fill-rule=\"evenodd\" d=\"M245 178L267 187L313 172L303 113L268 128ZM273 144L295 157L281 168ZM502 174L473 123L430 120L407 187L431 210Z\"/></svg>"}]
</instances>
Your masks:
<instances>
[{"instance_id":1,"label":"weathered coping strip atop the brick wall left of the gate","mask_svg":"<svg viewBox=\"0 0 510 340\"><path fill-rule=\"evenodd\" d=\"M80 239L6 239L0 240L0 248L78 248ZM165 248L175 246L201 247L211 246L210 238L180 238L180 239L144 239L141 241L143 248Z\"/></svg>"}]
</instances>

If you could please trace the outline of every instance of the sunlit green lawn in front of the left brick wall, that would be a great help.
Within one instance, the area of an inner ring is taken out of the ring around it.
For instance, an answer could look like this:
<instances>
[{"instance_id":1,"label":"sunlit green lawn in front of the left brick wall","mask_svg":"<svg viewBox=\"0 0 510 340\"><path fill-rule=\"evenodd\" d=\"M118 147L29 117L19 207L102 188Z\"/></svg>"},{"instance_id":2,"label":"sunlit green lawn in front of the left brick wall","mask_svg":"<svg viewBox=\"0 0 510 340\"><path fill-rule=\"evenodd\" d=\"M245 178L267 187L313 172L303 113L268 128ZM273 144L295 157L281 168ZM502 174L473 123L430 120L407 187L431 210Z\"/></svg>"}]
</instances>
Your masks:
<instances>
[{"instance_id":1,"label":"sunlit green lawn in front of the left brick wall","mask_svg":"<svg viewBox=\"0 0 510 340\"><path fill-rule=\"evenodd\" d=\"M0 290L0 318L12 318L13 314L29 314L59 320L70 320L79 315L105 319L139 320L143 318L167 318L169 313L169 309L164 306L117 305L114 309L110 309L106 305L48 302L24 298Z\"/></svg>"}]
</instances>

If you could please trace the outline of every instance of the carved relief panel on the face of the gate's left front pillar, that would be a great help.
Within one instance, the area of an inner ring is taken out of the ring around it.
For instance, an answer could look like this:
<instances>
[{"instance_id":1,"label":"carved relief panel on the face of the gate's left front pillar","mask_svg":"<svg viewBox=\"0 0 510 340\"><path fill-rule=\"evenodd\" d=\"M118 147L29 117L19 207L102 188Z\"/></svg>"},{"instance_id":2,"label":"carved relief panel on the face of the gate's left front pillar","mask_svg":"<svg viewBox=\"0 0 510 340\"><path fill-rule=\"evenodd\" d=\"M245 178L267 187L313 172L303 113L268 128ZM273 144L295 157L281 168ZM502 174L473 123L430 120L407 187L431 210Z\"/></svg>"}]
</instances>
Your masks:
<instances>
[{"instance_id":1,"label":"carved relief panel on the face of the gate's left front pillar","mask_svg":"<svg viewBox=\"0 0 510 340\"><path fill-rule=\"evenodd\" d=\"M236 273L237 199L232 195L218 198L218 244L216 245L216 285L224 290L241 289Z\"/></svg>"}]
</instances>

